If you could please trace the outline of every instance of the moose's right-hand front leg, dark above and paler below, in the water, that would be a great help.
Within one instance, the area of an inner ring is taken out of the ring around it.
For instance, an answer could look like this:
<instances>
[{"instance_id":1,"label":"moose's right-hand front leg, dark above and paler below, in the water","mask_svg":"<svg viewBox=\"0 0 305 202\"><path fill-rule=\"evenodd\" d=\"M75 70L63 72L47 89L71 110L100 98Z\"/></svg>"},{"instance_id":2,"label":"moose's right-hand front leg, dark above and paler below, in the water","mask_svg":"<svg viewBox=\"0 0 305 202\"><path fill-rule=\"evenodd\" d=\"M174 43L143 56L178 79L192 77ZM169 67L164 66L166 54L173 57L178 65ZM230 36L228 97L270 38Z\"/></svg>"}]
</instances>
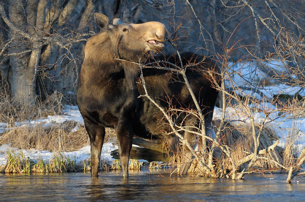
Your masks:
<instances>
[{"instance_id":1,"label":"moose's right-hand front leg, dark above and paler below, in the water","mask_svg":"<svg viewBox=\"0 0 305 202\"><path fill-rule=\"evenodd\" d=\"M123 177L128 177L129 154L133 139L131 124L126 123L126 121L121 121L115 126L115 130L117 132L117 139L119 142L119 154Z\"/></svg>"}]
</instances>

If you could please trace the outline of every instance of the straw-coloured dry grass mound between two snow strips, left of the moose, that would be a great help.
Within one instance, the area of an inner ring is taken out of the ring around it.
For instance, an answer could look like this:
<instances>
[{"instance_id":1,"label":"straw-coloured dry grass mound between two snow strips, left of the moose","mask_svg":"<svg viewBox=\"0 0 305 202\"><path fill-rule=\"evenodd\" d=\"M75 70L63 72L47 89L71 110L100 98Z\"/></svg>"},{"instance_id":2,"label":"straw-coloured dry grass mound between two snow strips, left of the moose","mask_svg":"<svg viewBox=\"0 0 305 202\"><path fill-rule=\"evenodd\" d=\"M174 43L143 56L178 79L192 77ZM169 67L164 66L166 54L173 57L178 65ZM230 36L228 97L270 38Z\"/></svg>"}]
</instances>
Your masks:
<instances>
[{"instance_id":1,"label":"straw-coloured dry grass mound between two snow strips, left of the moose","mask_svg":"<svg viewBox=\"0 0 305 202\"><path fill-rule=\"evenodd\" d=\"M78 130L71 132L76 126ZM105 142L114 137L114 130L106 128ZM50 152L71 152L90 145L90 140L84 126L77 122L66 121L51 127L38 125L10 128L2 134L0 145L2 144L12 144L12 147L20 149L34 148Z\"/></svg>"}]
</instances>

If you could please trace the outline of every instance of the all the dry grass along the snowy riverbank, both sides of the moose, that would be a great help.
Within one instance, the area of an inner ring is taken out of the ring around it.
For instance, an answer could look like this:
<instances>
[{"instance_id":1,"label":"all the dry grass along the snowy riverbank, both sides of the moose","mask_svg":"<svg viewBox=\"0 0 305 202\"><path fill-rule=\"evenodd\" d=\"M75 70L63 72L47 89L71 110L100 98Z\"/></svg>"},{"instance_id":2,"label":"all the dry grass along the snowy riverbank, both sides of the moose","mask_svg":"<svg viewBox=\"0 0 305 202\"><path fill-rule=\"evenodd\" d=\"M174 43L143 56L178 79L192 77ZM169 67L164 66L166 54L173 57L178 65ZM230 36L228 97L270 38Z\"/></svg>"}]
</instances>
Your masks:
<instances>
[{"instance_id":1,"label":"all the dry grass along the snowy riverbank, both sides of the moose","mask_svg":"<svg viewBox=\"0 0 305 202\"><path fill-rule=\"evenodd\" d=\"M1 84L3 86L3 84ZM6 85L4 85L6 86ZM11 144L13 147L20 149L35 148L38 150L48 150L50 152L57 152L57 157L53 161L43 162L42 159L35 161L24 159L22 154L10 153L5 172L66 172L90 170L90 160L84 161L82 165L75 165L74 161L66 158L61 152L76 151L86 145L90 144L88 134L84 126L78 125L73 121L66 121L62 124L53 124L51 127L43 127L42 125L35 125L29 127L13 127L16 121L35 120L47 115L58 115L62 109L62 94L54 92L48 96L44 102L38 102L38 106L23 107L13 104L13 99L7 96L5 88L0 92L0 122L7 122L12 125L8 128L0 138L0 145ZM40 103L40 104L39 104ZM215 126L219 121L215 121ZM78 130L71 132L75 127ZM256 132L258 133L258 127ZM269 127L264 127L260 137L259 149L267 148L272 145L272 141L278 137ZM227 122L221 134L221 143L227 145L235 162L242 159L253 149L252 130L249 124L232 124ZM115 132L111 128L106 128L105 142L116 141ZM276 147L275 151L265 155L269 159L277 162L283 162L284 165L293 165L295 162L295 139L287 139L285 150L281 147ZM172 166L179 166L181 162L181 145L177 137L169 138L161 141L165 151L169 151L172 156L170 162ZM225 155L223 155L225 157ZM14 164L15 163L15 164ZM20 165L19 167L16 165ZM167 164L168 165L168 164ZM223 159L225 169L231 168L231 162L228 158ZM246 165L239 167L242 169ZM8 167L10 166L10 167ZM142 164L138 160L131 160L130 169L139 169ZM164 167L158 165L156 162L149 163L148 168ZM100 168L102 170L116 170L120 169L119 162L101 160ZM253 169L272 169L277 166L271 161L258 160ZM1 169L1 168L0 168ZM3 169L3 168L2 168ZM15 169L15 170L14 170ZM189 172L198 172L196 160L193 161Z\"/></svg>"}]
</instances>

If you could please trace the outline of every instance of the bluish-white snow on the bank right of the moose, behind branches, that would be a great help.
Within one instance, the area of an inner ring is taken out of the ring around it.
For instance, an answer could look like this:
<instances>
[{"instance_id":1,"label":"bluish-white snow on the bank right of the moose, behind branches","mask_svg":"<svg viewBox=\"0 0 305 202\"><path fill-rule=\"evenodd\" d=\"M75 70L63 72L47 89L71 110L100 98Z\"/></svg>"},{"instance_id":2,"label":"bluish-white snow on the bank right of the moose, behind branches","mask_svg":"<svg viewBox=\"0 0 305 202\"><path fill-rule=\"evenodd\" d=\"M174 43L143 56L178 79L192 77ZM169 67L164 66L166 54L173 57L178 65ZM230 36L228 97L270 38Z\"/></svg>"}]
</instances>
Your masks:
<instances>
[{"instance_id":1,"label":"bluish-white snow on the bank right of the moose, behind branches","mask_svg":"<svg viewBox=\"0 0 305 202\"><path fill-rule=\"evenodd\" d=\"M260 66L260 67L259 67ZM284 77L289 75L289 67L285 61L271 60L271 61L245 61L228 63L228 75L230 79L226 79L225 84L227 87L237 87L235 93L242 95L243 97L254 97L260 99L261 103L257 106L250 106L258 111L253 113L254 119L257 123L262 123L265 115L263 111L270 112L267 119L278 137L281 139L279 146L285 146L286 138L289 136L296 135L296 144L301 149L305 145L305 116L303 110L302 116L295 116L293 112L286 113L285 115L278 113L277 106L272 105L266 100L273 99L274 95L288 95L296 96L300 95L305 97L305 88L298 85L288 85L277 80L272 80L270 75L266 72L277 72L282 74ZM292 75L295 78L295 75ZM230 80L230 81L229 81ZM264 82L269 83L269 85L261 84ZM265 98L263 98L263 96ZM214 118L221 117L221 110L215 108ZM249 121L248 116L245 112L232 108L226 109L226 117L234 120Z\"/></svg>"}]
</instances>

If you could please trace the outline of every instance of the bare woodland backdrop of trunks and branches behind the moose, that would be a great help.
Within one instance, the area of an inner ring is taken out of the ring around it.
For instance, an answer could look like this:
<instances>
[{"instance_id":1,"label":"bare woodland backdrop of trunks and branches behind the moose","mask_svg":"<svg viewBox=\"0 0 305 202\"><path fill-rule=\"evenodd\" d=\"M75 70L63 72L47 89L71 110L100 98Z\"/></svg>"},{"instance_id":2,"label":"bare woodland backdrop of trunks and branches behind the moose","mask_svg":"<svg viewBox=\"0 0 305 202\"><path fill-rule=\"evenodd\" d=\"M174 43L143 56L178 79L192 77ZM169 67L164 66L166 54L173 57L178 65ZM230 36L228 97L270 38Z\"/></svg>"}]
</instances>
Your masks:
<instances>
[{"instance_id":1,"label":"bare woodland backdrop of trunks and branches behind the moose","mask_svg":"<svg viewBox=\"0 0 305 202\"><path fill-rule=\"evenodd\" d=\"M227 48L232 49L234 61L249 54L261 61L285 60L293 75L289 82L304 82L304 4L282 0L2 0L1 79L20 102L31 103L54 90L75 96L84 43L97 32L93 13L101 12L128 23L162 22L181 52L197 49L217 56ZM167 46L167 52L173 51ZM281 78L280 72L267 72Z\"/></svg>"}]
</instances>

